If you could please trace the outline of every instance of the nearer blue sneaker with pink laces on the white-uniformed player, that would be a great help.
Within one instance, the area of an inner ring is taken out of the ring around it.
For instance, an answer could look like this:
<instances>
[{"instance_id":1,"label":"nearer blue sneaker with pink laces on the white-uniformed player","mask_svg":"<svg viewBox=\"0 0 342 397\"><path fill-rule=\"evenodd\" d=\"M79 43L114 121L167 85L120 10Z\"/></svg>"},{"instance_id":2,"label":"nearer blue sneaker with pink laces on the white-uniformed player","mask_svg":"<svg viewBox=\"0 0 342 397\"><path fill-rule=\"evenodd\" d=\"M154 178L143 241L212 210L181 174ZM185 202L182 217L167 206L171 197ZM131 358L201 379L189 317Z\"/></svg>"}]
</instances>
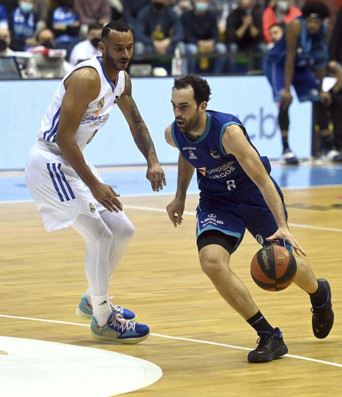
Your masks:
<instances>
[{"instance_id":1,"label":"nearer blue sneaker with pink laces on the white-uniformed player","mask_svg":"<svg viewBox=\"0 0 342 397\"><path fill-rule=\"evenodd\" d=\"M91 318L90 335L101 342L139 343L150 334L150 327L134 321L127 321L119 313L114 312L107 324L99 327L94 316Z\"/></svg>"}]
</instances>

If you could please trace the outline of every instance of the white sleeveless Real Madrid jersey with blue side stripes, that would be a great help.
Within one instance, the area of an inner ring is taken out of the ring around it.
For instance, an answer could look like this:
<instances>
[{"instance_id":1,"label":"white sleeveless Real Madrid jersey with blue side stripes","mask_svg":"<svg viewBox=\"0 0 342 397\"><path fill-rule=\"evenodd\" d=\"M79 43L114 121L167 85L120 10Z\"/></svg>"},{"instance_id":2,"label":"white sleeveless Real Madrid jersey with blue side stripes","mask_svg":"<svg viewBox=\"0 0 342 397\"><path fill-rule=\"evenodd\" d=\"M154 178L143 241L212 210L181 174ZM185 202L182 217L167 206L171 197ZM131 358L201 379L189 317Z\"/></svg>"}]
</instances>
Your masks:
<instances>
[{"instance_id":1,"label":"white sleeveless Real Madrid jersey with blue side stripes","mask_svg":"<svg viewBox=\"0 0 342 397\"><path fill-rule=\"evenodd\" d=\"M40 138L39 141L45 142L46 146L48 146L52 151L54 151L54 149L56 152L60 151L58 145L55 143L55 136L60 118L62 99L66 93L64 81L74 70L84 66L91 66L97 70L101 80L99 96L93 102L89 103L87 111L85 112L75 133L75 139L81 152L83 152L85 146L93 139L93 137L95 137L97 131L106 124L109 118L109 112L114 108L118 98L120 98L120 95L124 92L124 71L119 72L116 82L113 84L108 79L100 58L100 56L94 56L93 58L81 62L77 66L73 67L73 69L71 69L60 82L60 85L54 93L52 101L43 116L41 129L37 135Z\"/></svg>"}]
</instances>

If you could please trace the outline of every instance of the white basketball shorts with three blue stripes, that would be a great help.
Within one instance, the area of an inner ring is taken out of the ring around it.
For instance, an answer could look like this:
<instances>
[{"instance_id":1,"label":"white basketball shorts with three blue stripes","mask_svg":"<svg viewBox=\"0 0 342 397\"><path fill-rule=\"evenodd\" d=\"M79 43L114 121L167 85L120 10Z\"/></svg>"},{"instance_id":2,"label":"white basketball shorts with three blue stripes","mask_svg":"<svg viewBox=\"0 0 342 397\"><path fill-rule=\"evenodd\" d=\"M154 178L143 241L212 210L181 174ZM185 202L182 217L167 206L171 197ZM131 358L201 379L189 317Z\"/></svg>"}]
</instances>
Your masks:
<instances>
[{"instance_id":1,"label":"white basketball shorts with three blue stripes","mask_svg":"<svg viewBox=\"0 0 342 397\"><path fill-rule=\"evenodd\" d=\"M87 160L85 162L95 177L104 183L97 169ZM65 156L45 151L38 145L31 148L25 179L46 231L68 227L79 214L99 218L99 211L106 209L95 200Z\"/></svg>"}]
</instances>

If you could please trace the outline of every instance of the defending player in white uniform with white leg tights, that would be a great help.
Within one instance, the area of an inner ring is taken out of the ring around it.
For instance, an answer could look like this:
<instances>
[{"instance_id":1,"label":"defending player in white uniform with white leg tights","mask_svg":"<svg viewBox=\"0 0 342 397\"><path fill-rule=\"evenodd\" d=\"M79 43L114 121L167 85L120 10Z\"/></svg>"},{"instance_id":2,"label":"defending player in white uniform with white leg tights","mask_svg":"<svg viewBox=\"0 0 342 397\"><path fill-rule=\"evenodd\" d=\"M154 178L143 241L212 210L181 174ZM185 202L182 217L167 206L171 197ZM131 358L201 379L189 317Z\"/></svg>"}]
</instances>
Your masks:
<instances>
[{"instance_id":1,"label":"defending player in white uniform with white leg tights","mask_svg":"<svg viewBox=\"0 0 342 397\"><path fill-rule=\"evenodd\" d=\"M147 160L147 179L153 191L166 185L147 127L131 95L125 69L133 53L133 35L126 23L112 21L102 30L99 50L64 77L41 123L39 140L25 167L29 191L46 231L71 225L86 243L85 273L89 282L76 314L91 319L91 335L100 341L138 343L149 326L116 306L108 284L133 233L118 195L105 185L83 149L106 124L117 103L135 144ZM119 131L115 131L119 133Z\"/></svg>"}]
</instances>

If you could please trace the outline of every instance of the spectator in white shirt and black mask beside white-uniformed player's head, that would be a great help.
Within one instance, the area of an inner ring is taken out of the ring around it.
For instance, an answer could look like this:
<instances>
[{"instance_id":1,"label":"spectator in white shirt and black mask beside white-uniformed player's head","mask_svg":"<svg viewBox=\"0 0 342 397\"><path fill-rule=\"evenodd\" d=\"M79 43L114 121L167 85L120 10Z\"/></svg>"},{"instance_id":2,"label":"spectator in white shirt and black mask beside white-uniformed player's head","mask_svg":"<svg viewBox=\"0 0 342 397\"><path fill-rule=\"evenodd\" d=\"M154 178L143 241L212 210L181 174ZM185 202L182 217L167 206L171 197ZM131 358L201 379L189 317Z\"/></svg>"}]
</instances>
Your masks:
<instances>
[{"instance_id":1,"label":"spectator in white shirt and black mask beside white-uniformed player's head","mask_svg":"<svg viewBox=\"0 0 342 397\"><path fill-rule=\"evenodd\" d=\"M87 39L77 43L70 54L70 64L76 66L79 62L100 56L99 42L101 41L102 25L94 23L89 25Z\"/></svg>"}]
</instances>

